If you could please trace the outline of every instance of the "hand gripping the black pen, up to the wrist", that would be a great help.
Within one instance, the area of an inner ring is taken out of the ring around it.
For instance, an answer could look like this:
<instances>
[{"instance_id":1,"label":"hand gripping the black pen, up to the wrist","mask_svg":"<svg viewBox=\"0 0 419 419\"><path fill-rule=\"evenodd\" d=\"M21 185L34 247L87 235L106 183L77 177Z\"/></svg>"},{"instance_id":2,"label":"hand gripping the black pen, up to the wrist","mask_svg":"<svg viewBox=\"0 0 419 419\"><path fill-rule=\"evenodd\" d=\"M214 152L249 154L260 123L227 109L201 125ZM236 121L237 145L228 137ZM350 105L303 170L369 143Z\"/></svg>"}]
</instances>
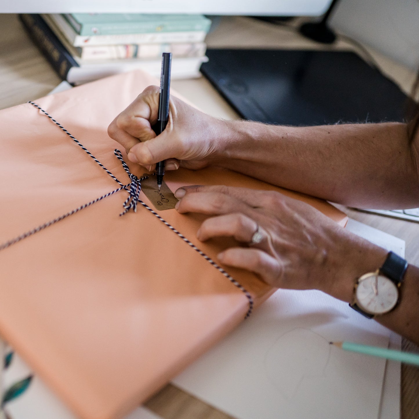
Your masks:
<instances>
[{"instance_id":1,"label":"hand gripping the black pen, up to the wrist","mask_svg":"<svg viewBox=\"0 0 419 419\"><path fill-rule=\"evenodd\" d=\"M148 86L108 127L109 137L125 148L129 160L153 171L166 160L166 170L199 169L217 157L228 122L204 114L171 96L169 121L156 137L159 88Z\"/></svg>"}]
</instances>

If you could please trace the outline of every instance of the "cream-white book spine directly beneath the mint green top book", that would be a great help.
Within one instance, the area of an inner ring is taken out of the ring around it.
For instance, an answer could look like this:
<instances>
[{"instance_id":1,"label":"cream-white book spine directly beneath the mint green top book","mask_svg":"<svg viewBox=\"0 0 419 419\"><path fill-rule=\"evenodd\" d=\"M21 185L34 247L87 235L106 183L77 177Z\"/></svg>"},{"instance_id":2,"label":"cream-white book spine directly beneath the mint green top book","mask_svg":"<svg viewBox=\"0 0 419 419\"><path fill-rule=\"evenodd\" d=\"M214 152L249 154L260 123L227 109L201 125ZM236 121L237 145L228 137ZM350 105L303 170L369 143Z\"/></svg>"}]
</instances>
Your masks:
<instances>
[{"instance_id":1,"label":"cream-white book spine directly beneath the mint green top book","mask_svg":"<svg viewBox=\"0 0 419 419\"><path fill-rule=\"evenodd\" d=\"M159 44L175 42L202 42L205 31L163 32L158 34L126 34L126 35L77 35L70 40L74 47L87 45L118 45L118 44Z\"/></svg>"}]
</instances>

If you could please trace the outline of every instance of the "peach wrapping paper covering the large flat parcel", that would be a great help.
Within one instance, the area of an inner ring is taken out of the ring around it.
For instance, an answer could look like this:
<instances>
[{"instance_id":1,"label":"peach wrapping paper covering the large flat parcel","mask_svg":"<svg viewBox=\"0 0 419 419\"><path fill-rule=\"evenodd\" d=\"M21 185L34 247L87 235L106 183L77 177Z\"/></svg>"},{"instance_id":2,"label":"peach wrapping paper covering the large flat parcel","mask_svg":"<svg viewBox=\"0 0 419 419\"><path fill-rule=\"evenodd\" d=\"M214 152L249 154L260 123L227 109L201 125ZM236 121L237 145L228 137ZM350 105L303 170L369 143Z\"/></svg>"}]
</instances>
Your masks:
<instances>
[{"instance_id":1,"label":"peach wrapping paper covering the large flat parcel","mask_svg":"<svg viewBox=\"0 0 419 419\"><path fill-rule=\"evenodd\" d=\"M129 184L113 153L121 147L106 129L150 84L158 80L138 71L35 102ZM119 186L31 104L0 111L0 121L0 243ZM187 184L280 190L211 168L169 172L165 181L172 191ZM326 202L283 192L341 225L347 220ZM243 292L147 209L119 217L126 198L120 191L0 252L0 333L83 419L122 417L248 310ZM197 242L202 217L160 215L213 259L226 246ZM274 291L249 272L225 269L256 305Z\"/></svg>"}]
</instances>

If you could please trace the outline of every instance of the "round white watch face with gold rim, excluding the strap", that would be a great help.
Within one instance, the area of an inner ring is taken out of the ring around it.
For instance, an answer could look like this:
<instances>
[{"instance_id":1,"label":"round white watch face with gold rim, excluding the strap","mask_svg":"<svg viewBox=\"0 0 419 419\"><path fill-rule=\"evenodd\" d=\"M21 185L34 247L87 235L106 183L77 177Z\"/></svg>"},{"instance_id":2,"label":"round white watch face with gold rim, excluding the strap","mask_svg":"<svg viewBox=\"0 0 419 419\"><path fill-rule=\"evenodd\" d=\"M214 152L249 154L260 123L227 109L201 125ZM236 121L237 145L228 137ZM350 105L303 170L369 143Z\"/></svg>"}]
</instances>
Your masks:
<instances>
[{"instance_id":1,"label":"round white watch face with gold rim, excluding the strap","mask_svg":"<svg viewBox=\"0 0 419 419\"><path fill-rule=\"evenodd\" d=\"M393 281L383 275L367 274L358 281L357 305L371 314L383 314L397 303L398 289Z\"/></svg>"}]
</instances>

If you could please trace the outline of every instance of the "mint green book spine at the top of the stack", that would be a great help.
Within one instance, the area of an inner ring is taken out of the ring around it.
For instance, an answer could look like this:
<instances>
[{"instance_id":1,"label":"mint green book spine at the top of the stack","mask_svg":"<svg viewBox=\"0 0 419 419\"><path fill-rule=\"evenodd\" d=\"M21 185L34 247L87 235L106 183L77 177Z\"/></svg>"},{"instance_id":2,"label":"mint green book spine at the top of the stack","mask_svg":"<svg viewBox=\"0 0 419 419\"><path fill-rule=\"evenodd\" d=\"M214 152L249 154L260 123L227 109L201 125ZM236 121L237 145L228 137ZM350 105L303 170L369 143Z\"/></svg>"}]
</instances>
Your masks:
<instances>
[{"instance_id":1,"label":"mint green book spine at the top of the stack","mask_svg":"<svg viewBox=\"0 0 419 419\"><path fill-rule=\"evenodd\" d=\"M68 20L67 20L68 21ZM72 22L69 22L72 24ZM124 22L124 23L84 23L80 27L72 25L75 31L82 36L96 35L123 35L123 34L148 34L161 32L208 32L211 21L199 17L193 20L179 21L151 21L151 22ZM78 28L80 28L78 30Z\"/></svg>"}]
</instances>

